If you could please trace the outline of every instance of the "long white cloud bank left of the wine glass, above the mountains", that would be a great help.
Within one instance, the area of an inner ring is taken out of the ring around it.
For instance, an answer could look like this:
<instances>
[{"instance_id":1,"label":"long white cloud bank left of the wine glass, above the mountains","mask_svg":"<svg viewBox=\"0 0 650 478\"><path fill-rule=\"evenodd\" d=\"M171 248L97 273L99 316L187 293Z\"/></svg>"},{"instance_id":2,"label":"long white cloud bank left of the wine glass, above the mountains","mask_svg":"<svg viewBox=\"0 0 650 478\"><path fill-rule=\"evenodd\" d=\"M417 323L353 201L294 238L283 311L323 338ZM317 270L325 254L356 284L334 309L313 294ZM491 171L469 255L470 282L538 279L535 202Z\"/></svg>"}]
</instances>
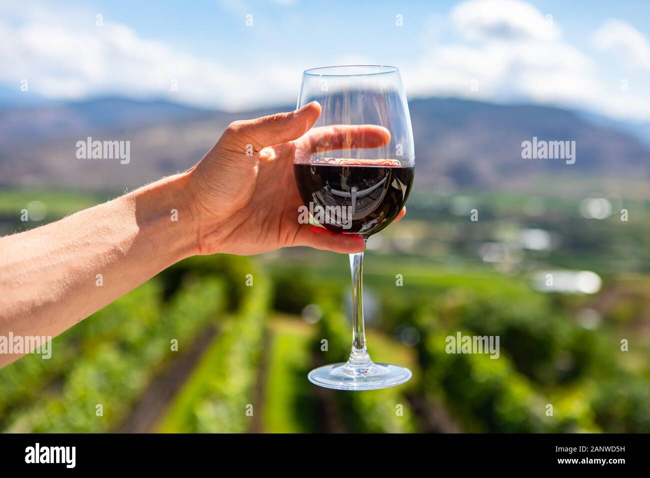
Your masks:
<instances>
[{"instance_id":1,"label":"long white cloud bank left of the wine glass, above the mountains","mask_svg":"<svg viewBox=\"0 0 650 478\"><path fill-rule=\"evenodd\" d=\"M142 38L121 23L105 20L98 27L94 16L41 13L18 22L0 20L0 63L10 65L0 70L0 83L18 88L27 79L30 90L46 98L120 94L224 109L268 105L298 90L300 68L257 64L257 74L233 70ZM295 81L287 81L291 78Z\"/></svg>"}]
</instances>

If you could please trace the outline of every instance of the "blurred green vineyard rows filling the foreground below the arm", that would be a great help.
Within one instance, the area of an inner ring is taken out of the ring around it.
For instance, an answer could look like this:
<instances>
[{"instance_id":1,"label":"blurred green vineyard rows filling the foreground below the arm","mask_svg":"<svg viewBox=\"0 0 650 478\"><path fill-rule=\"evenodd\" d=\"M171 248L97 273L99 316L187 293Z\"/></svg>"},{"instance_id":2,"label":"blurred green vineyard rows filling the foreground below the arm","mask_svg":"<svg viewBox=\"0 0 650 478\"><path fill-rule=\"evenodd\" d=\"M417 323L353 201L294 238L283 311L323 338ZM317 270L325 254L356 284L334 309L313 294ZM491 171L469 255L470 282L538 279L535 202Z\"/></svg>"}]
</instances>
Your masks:
<instances>
[{"instance_id":1,"label":"blurred green vineyard rows filling the foreground below the arm","mask_svg":"<svg viewBox=\"0 0 650 478\"><path fill-rule=\"evenodd\" d=\"M370 251L370 355L413 378L350 393L307 380L349 352L346 259L182 261L54 338L51 359L1 369L0 431L650 432L643 276L545 294L471 261ZM580 311L597 308L603 323L586 326ZM499 336L499 359L448 353L458 332Z\"/></svg>"}]
</instances>

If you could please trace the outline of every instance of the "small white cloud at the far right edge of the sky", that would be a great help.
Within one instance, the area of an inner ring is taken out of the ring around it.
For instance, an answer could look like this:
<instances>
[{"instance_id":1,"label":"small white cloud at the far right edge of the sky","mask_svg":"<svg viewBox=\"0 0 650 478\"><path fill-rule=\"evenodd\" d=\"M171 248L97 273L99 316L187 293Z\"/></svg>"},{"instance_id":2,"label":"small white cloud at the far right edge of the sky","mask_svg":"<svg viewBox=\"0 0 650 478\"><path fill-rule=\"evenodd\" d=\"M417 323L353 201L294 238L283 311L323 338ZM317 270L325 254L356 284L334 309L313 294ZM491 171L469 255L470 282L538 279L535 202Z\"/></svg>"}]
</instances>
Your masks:
<instances>
[{"instance_id":1,"label":"small white cloud at the far right edge of the sky","mask_svg":"<svg viewBox=\"0 0 650 478\"><path fill-rule=\"evenodd\" d=\"M600 51L621 57L629 66L650 70L650 42L647 37L622 20L607 20L591 37Z\"/></svg>"}]
</instances>

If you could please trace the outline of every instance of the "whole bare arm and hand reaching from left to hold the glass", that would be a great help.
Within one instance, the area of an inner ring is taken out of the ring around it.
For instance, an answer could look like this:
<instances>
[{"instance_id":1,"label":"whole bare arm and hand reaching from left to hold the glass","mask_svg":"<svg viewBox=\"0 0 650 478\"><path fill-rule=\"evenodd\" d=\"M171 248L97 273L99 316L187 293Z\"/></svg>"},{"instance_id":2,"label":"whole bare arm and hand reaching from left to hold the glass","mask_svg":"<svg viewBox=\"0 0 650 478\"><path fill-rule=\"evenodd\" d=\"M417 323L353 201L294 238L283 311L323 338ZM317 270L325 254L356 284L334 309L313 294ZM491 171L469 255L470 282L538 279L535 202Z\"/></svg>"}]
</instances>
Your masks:
<instances>
[{"instance_id":1,"label":"whole bare arm and hand reaching from left to hold the glass","mask_svg":"<svg viewBox=\"0 0 650 478\"><path fill-rule=\"evenodd\" d=\"M196 254L259 254L285 246L362 251L361 237L298 222L303 204L294 156L378 148L390 134L369 125L312 128L319 115L320 105L309 103L235 122L187 172L0 238L0 289L7 291L0 296L0 333L57 336ZM19 356L0 355L0 367Z\"/></svg>"}]
</instances>

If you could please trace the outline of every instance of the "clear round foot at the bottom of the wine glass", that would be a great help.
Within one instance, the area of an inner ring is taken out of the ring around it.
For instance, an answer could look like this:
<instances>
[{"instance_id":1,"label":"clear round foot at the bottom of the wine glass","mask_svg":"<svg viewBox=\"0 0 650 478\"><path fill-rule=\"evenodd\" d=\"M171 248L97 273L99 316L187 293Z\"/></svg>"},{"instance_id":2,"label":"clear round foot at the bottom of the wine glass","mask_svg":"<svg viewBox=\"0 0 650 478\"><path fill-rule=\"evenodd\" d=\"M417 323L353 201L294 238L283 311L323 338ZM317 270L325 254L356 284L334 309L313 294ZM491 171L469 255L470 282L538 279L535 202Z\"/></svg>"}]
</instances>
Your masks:
<instances>
[{"instance_id":1,"label":"clear round foot at the bottom of the wine glass","mask_svg":"<svg viewBox=\"0 0 650 478\"><path fill-rule=\"evenodd\" d=\"M355 361L318 367L307 378L315 385L335 390L377 390L408 382L412 375L409 369L399 365L375 364L370 360L363 364L351 362Z\"/></svg>"}]
</instances>

